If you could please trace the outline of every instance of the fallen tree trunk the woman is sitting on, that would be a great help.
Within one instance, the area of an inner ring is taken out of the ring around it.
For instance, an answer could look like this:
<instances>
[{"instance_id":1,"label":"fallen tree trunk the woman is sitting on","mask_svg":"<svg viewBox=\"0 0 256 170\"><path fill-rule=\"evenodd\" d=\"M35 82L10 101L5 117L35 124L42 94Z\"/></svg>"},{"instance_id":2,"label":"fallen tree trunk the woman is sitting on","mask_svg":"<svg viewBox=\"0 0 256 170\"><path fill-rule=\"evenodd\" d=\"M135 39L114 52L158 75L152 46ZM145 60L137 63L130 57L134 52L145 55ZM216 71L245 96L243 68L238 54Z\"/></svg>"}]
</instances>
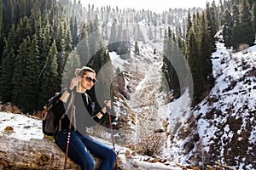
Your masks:
<instances>
[{"instance_id":1,"label":"fallen tree trunk the woman is sitting on","mask_svg":"<svg viewBox=\"0 0 256 170\"><path fill-rule=\"evenodd\" d=\"M29 141L0 136L1 169L63 169L65 153L50 139ZM100 159L95 158L96 167ZM67 159L67 169L80 169L79 165Z\"/></svg>"}]
</instances>

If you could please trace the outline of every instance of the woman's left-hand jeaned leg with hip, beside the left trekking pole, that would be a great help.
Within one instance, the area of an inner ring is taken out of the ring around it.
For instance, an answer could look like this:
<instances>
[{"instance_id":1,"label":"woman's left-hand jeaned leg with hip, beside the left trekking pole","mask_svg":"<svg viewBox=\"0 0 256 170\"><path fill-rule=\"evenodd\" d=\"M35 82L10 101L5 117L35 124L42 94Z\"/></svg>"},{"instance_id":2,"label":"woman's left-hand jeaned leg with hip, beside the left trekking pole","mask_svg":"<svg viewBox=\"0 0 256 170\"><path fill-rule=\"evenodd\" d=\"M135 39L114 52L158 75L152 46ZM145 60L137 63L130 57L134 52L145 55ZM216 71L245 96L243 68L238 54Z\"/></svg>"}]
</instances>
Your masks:
<instances>
[{"instance_id":1,"label":"woman's left-hand jeaned leg with hip, beside the left trekking pole","mask_svg":"<svg viewBox=\"0 0 256 170\"><path fill-rule=\"evenodd\" d=\"M68 131L61 131L56 134L55 142L61 147L66 153L67 148L67 133ZM82 139L84 136L71 132L70 142L68 147L68 157L70 157L73 161L75 161L81 167L81 170L93 170L95 161L90 156L89 151L84 146Z\"/></svg>"}]
</instances>

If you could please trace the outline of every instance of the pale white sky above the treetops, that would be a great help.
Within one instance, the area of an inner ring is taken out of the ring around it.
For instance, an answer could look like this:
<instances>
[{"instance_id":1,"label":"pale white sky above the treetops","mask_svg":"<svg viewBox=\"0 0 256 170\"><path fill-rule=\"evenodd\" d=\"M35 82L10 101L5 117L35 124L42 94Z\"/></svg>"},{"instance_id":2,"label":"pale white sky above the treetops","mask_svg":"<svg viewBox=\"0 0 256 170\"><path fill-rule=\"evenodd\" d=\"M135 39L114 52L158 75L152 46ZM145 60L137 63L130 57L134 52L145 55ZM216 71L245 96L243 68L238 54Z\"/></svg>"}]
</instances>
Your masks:
<instances>
[{"instance_id":1,"label":"pale white sky above the treetops","mask_svg":"<svg viewBox=\"0 0 256 170\"><path fill-rule=\"evenodd\" d=\"M135 8L149 9L151 11L162 13L169 8L205 8L207 2L212 3L213 0L154 0L154 1L139 1L139 0L82 0L81 3L84 7L88 7L88 3L94 4L95 7L102 7L110 5L112 8L118 6L119 8ZM218 3L218 0L215 0Z\"/></svg>"}]
</instances>

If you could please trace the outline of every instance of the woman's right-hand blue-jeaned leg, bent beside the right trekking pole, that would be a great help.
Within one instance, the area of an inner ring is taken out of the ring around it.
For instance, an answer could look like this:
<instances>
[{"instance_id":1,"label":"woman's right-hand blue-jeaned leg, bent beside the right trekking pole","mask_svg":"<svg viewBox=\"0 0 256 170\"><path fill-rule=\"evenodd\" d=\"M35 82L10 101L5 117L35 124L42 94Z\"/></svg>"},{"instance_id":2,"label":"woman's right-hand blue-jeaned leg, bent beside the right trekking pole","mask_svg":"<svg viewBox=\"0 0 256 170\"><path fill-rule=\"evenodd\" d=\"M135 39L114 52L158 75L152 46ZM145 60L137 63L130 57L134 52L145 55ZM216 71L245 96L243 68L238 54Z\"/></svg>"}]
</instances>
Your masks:
<instances>
[{"instance_id":1,"label":"woman's right-hand blue-jeaned leg, bent beside the right trekking pole","mask_svg":"<svg viewBox=\"0 0 256 170\"><path fill-rule=\"evenodd\" d=\"M91 139L86 135L83 142L90 153L102 159L100 170L112 170L116 153L112 148Z\"/></svg>"}]
</instances>

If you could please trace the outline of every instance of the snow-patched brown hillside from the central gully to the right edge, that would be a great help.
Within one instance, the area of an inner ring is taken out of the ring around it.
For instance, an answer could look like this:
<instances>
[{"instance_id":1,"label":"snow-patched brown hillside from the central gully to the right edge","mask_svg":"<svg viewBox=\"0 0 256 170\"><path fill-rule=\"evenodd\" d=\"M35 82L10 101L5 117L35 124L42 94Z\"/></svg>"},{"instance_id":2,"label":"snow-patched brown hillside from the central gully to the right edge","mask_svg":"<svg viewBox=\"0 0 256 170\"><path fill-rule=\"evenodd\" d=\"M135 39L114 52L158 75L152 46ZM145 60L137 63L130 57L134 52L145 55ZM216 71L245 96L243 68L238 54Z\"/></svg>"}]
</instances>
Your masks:
<instances>
[{"instance_id":1,"label":"snow-patched brown hillside from the central gully to the right edge","mask_svg":"<svg viewBox=\"0 0 256 170\"><path fill-rule=\"evenodd\" d=\"M131 54L127 60L111 54L114 69L124 72L129 92L129 99L119 98L115 103L117 141L136 152L143 148L140 144L159 144L148 150L159 149L160 157L172 162L202 168L219 162L254 169L256 46L233 53L216 42L217 51L212 54L215 86L199 105L190 108L187 91L166 103L168 94L160 90L161 57L153 54L160 44L139 44L141 54ZM166 141L157 143L160 139Z\"/></svg>"}]
</instances>

